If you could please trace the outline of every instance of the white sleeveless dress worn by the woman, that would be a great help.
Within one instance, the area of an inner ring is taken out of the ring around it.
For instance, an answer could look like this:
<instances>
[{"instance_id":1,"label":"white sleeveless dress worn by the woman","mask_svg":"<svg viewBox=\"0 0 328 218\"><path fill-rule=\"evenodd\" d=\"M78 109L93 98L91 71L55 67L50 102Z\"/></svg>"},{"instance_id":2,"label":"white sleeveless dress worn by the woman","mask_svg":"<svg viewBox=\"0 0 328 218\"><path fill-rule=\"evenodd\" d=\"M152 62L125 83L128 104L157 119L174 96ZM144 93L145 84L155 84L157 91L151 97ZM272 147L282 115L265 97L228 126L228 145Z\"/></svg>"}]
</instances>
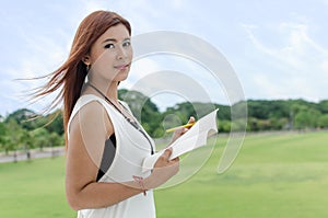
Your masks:
<instances>
[{"instance_id":1,"label":"white sleeveless dress worn by the woman","mask_svg":"<svg viewBox=\"0 0 328 218\"><path fill-rule=\"evenodd\" d=\"M113 107L113 105L109 105L105 100L93 94L82 95L73 108L68 123L68 129L72 118L80 108L92 101L99 102L106 108L106 112L113 123L116 137L116 153L114 160L107 172L105 172L98 182L117 183L133 181L133 175L142 177L149 176L150 172L142 173L141 165L143 159L151 156L152 149L154 150L154 141L147 135L149 138L148 140L144 135L136 129L115 107ZM121 103L128 108L126 103ZM141 125L139 126L141 127ZM152 145L150 145L150 141ZM153 217L155 217L155 205L152 191L147 191L147 196L141 193L106 208L90 208L78 211L78 218Z\"/></svg>"}]
</instances>

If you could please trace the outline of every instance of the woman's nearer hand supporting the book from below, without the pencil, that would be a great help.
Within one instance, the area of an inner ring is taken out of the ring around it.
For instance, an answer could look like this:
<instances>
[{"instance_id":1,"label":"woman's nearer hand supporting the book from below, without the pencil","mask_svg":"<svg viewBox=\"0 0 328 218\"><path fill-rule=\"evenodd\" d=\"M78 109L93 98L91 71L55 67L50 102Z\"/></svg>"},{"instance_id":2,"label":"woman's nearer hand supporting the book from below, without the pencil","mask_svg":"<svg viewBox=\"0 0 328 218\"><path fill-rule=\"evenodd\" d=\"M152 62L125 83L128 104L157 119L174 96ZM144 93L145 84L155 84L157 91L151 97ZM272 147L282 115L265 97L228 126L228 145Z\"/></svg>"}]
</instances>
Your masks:
<instances>
[{"instance_id":1,"label":"woman's nearer hand supporting the book from below, without the pencil","mask_svg":"<svg viewBox=\"0 0 328 218\"><path fill-rule=\"evenodd\" d=\"M179 171L179 158L169 160L172 148L168 148L157 159L152 174L144 180L145 190L159 187Z\"/></svg>"}]
</instances>

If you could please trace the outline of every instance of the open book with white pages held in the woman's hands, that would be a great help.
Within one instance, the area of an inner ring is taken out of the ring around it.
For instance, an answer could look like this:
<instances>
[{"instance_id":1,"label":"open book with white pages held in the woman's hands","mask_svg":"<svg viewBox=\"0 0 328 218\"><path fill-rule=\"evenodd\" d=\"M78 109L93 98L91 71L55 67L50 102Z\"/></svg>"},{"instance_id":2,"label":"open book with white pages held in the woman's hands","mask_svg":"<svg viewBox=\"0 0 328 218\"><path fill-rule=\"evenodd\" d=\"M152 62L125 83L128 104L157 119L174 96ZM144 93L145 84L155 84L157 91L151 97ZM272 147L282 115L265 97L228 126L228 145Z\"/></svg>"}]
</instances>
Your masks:
<instances>
[{"instance_id":1,"label":"open book with white pages held in the woman's hands","mask_svg":"<svg viewBox=\"0 0 328 218\"><path fill-rule=\"evenodd\" d=\"M209 113L201 117L186 134L175 140L167 148L172 148L169 159L175 159L184 153L187 153L196 148L207 145L207 138L218 133L216 112ZM164 153L165 149L150 156L143 160L142 171L149 171L154 168L155 162Z\"/></svg>"}]
</instances>

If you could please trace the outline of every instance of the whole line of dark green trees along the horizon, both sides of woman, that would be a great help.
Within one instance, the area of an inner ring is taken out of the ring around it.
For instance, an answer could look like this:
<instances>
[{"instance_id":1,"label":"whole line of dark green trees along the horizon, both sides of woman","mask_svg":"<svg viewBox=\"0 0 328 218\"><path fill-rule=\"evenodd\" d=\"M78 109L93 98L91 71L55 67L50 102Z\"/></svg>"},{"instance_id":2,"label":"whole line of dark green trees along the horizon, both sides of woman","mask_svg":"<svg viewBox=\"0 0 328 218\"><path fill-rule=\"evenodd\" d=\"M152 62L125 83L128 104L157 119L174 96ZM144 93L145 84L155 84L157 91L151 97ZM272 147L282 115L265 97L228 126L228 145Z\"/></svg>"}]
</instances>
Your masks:
<instances>
[{"instance_id":1,"label":"whole line of dark green trees along the horizon, both sides of woman","mask_svg":"<svg viewBox=\"0 0 328 218\"><path fill-rule=\"evenodd\" d=\"M232 121L230 105L184 102L161 112L151 99L137 91L119 90L119 99L128 103L143 128L154 138L162 138L166 128L185 124L190 116L198 119L213 108L220 108L216 117L220 133L230 133L232 125L238 124L238 121ZM318 103L302 99L247 100L244 103L247 104L247 131L328 128L328 100ZM43 149L65 144L60 110L40 115L21 108L0 118L2 152Z\"/></svg>"}]
</instances>

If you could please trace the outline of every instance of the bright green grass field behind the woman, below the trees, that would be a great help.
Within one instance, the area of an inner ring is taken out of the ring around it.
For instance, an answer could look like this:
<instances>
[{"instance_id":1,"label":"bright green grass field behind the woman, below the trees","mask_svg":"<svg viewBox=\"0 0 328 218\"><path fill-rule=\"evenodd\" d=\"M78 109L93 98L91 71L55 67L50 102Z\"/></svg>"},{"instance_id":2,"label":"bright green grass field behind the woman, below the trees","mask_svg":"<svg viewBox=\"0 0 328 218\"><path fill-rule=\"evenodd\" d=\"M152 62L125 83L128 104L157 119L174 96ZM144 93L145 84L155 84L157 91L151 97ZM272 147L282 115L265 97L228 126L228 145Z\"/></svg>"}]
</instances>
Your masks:
<instances>
[{"instance_id":1,"label":"bright green grass field behind the woman, below the trees","mask_svg":"<svg viewBox=\"0 0 328 218\"><path fill-rule=\"evenodd\" d=\"M155 191L157 217L326 218L328 133L251 135L216 173L226 138L186 182ZM0 164L0 217L75 217L65 198L65 159Z\"/></svg>"}]
</instances>

